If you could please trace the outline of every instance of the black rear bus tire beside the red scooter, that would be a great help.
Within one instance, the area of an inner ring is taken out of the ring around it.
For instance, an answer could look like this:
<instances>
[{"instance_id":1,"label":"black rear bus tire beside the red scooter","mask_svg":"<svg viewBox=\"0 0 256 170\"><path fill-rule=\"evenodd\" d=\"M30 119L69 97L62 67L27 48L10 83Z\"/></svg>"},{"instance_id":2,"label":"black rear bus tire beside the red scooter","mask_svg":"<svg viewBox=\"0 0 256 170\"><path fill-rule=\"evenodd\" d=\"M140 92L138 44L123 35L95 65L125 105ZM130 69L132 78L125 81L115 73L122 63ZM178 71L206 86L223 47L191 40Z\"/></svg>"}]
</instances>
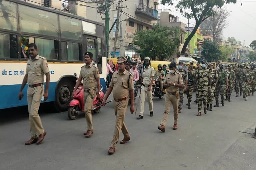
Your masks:
<instances>
[{"instance_id":1,"label":"black rear bus tire beside the red scooter","mask_svg":"<svg viewBox=\"0 0 256 170\"><path fill-rule=\"evenodd\" d=\"M68 110L69 102L72 99L73 89L74 83L72 81L67 81L64 79L58 84L54 101L54 106L58 112Z\"/></svg>"}]
</instances>

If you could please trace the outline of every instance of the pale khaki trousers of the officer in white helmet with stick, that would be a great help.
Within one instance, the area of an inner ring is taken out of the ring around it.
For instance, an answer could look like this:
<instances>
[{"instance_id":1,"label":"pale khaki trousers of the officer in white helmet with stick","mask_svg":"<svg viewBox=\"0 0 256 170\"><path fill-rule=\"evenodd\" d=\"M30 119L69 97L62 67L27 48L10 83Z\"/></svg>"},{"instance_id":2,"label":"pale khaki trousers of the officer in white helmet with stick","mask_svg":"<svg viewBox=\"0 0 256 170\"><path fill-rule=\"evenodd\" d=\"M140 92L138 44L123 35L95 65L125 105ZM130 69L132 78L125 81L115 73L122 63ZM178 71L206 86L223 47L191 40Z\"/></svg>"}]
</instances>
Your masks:
<instances>
[{"instance_id":1,"label":"pale khaki trousers of the officer in white helmet with stick","mask_svg":"<svg viewBox=\"0 0 256 170\"><path fill-rule=\"evenodd\" d=\"M149 111L153 112L152 88L151 88L150 91L148 91L148 88L145 87L145 86L141 86L140 88L141 88L141 93L140 93L140 115L143 116L146 94L148 96Z\"/></svg>"}]
</instances>

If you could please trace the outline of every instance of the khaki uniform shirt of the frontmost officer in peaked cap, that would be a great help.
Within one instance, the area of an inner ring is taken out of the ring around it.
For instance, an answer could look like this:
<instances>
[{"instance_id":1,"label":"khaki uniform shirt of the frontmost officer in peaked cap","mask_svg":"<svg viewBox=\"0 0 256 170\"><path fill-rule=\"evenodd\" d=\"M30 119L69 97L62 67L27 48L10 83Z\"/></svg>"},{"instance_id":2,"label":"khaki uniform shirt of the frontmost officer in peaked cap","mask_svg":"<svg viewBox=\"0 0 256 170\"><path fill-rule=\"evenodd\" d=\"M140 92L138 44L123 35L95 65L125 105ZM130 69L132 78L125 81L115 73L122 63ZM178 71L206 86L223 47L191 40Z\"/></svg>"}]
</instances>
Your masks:
<instances>
[{"instance_id":1,"label":"khaki uniform shirt of the frontmost officer in peaked cap","mask_svg":"<svg viewBox=\"0 0 256 170\"><path fill-rule=\"evenodd\" d=\"M130 80L128 82L130 75ZM133 90L133 78L131 73L124 70L123 73L115 71L113 73L112 79L109 84L110 87L113 87L113 97L114 99L122 99L129 96L129 90Z\"/></svg>"}]
</instances>

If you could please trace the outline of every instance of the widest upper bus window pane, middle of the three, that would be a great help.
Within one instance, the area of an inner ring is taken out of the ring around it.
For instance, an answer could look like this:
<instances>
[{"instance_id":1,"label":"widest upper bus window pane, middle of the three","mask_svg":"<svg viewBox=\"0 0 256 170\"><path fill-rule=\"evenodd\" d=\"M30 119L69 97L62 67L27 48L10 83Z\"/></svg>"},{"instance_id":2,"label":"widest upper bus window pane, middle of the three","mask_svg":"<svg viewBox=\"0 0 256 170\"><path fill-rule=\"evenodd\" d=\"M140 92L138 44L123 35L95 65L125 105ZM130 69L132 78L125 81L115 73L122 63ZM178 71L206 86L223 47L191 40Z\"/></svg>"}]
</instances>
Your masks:
<instances>
[{"instance_id":1,"label":"widest upper bus window pane, middle of the three","mask_svg":"<svg viewBox=\"0 0 256 170\"><path fill-rule=\"evenodd\" d=\"M19 5L21 31L46 36L59 36L57 14Z\"/></svg>"}]
</instances>

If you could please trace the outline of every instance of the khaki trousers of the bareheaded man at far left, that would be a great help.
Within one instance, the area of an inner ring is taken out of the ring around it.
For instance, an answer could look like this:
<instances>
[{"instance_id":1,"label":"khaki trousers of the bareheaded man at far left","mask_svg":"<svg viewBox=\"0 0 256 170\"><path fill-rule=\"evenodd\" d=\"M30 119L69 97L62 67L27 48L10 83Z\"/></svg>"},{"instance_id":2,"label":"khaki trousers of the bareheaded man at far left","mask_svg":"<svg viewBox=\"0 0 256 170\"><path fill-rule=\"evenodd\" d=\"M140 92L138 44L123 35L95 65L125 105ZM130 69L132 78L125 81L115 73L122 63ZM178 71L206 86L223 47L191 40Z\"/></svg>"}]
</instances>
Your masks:
<instances>
[{"instance_id":1,"label":"khaki trousers of the bareheaded man at far left","mask_svg":"<svg viewBox=\"0 0 256 170\"><path fill-rule=\"evenodd\" d=\"M38 114L41 99L44 94L44 85L38 87L28 87L27 90L27 101L28 101L28 114L30 123L31 137L36 138L44 132L44 128Z\"/></svg>"}]
</instances>

